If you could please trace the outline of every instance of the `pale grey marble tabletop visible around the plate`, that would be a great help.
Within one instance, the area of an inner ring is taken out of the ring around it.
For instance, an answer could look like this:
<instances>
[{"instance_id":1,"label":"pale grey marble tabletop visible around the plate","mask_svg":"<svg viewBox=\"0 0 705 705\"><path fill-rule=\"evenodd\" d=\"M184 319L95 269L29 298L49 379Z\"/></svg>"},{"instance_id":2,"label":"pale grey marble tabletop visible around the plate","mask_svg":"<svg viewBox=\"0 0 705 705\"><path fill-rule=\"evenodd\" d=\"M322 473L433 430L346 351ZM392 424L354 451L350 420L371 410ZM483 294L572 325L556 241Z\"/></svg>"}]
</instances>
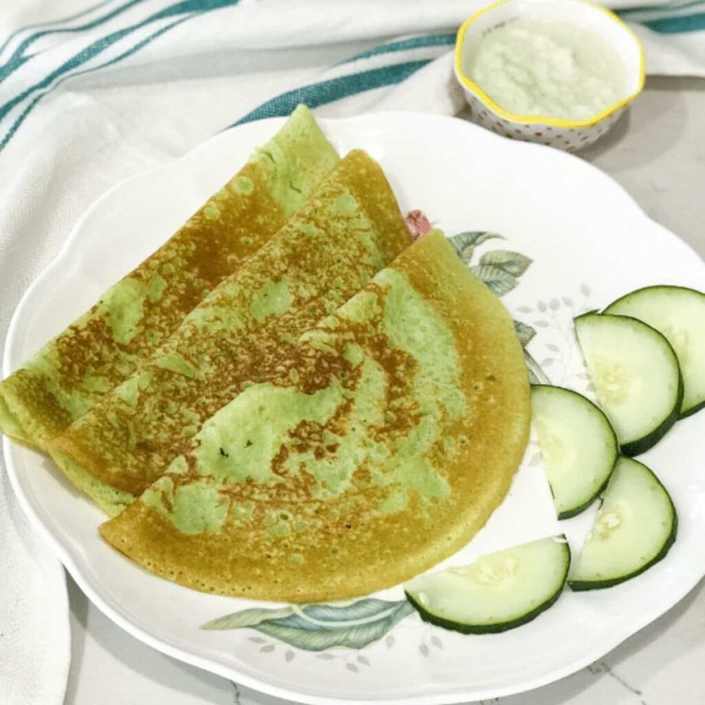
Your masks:
<instances>
[{"instance_id":1,"label":"pale grey marble tabletop visible around the plate","mask_svg":"<svg viewBox=\"0 0 705 705\"><path fill-rule=\"evenodd\" d=\"M651 217L705 255L705 82L652 78L629 114L583 157ZM66 705L278 705L186 666L113 625L69 579L73 663ZM501 705L698 705L705 702L705 583L580 673Z\"/></svg>"}]
</instances>

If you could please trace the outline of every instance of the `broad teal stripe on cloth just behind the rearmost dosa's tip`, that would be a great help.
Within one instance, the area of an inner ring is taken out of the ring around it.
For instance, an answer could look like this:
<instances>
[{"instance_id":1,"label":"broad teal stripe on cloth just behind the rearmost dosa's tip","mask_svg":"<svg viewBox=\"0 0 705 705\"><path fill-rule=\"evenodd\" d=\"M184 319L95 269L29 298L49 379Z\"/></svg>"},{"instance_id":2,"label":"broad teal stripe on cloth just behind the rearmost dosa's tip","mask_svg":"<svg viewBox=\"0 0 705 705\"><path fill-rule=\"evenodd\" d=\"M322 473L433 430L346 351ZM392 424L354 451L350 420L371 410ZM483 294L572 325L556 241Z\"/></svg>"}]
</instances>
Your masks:
<instances>
[{"instance_id":1,"label":"broad teal stripe on cloth just behind the rearmost dosa's tip","mask_svg":"<svg viewBox=\"0 0 705 705\"><path fill-rule=\"evenodd\" d=\"M263 103L259 108L245 115L244 118L240 118L240 120L234 122L232 125L228 125L226 130L235 127L235 125L243 125L244 123L250 123L255 120L262 120L262 118L286 116L290 114L299 103L305 103L309 108L317 108L320 105L333 103L336 100L372 90L373 88L400 83L409 78L412 73L416 73L419 68L426 66L430 61L431 59L406 61L405 63L373 68L370 71L361 71L360 73L353 73L352 75L339 76L338 78L331 78L327 81L311 83L301 88L290 90Z\"/></svg>"}]
</instances>

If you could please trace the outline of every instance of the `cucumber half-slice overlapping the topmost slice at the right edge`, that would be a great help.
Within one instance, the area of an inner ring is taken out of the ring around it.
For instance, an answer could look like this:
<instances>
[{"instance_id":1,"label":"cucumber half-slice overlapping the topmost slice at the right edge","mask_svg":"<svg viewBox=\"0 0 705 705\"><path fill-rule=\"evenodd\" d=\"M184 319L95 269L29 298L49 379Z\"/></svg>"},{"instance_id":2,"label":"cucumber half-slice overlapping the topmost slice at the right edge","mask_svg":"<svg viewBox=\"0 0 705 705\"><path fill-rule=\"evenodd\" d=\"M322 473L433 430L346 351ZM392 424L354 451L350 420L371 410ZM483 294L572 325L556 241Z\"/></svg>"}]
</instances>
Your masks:
<instances>
[{"instance_id":1,"label":"cucumber half-slice overlapping the topmost slice at the right edge","mask_svg":"<svg viewBox=\"0 0 705 705\"><path fill-rule=\"evenodd\" d=\"M575 332L623 455L644 453L680 413L683 383L673 348L627 316L586 313L575 319Z\"/></svg>"}]
</instances>

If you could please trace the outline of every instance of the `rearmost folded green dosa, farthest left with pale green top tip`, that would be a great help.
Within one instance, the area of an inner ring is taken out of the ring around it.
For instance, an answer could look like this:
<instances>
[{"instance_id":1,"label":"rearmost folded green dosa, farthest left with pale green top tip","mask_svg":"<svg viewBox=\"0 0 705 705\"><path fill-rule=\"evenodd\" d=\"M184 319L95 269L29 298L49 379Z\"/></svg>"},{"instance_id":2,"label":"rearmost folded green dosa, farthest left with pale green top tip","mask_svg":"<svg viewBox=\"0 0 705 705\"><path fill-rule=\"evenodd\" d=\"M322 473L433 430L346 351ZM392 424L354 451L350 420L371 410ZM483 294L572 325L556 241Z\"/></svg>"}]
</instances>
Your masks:
<instances>
[{"instance_id":1,"label":"rearmost folded green dosa, farthest left with pale green top tip","mask_svg":"<svg viewBox=\"0 0 705 705\"><path fill-rule=\"evenodd\" d=\"M0 384L0 430L45 449L257 252L337 162L300 106L165 245Z\"/></svg>"}]
</instances>

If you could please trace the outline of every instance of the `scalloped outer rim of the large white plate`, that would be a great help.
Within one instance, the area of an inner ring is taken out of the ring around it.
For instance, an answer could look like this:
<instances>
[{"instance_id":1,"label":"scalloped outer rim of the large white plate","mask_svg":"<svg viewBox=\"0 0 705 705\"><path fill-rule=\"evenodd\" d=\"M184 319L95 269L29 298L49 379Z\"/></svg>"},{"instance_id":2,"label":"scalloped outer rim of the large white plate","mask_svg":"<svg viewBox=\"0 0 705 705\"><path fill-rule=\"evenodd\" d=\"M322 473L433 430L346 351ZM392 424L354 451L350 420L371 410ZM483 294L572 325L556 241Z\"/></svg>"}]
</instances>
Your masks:
<instances>
[{"instance_id":1,"label":"scalloped outer rim of the large white plate","mask_svg":"<svg viewBox=\"0 0 705 705\"><path fill-rule=\"evenodd\" d=\"M326 130L327 127L338 122L353 124L356 122L360 122L364 124L366 122L374 123L374 121L376 121L377 119L384 120L385 118L389 117L395 119L403 119L403 116L409 116L412 119L422 118L424 121L438 120L452 121L455 124L460 123L464 125L464 128L466 128L467 130L471 130L472 132L474 132L477 139L491 140L493 142L496 142L496 145L501 145L502 149L510 148L528 149L532 151L536 150L537 152L541 152L541 154L544 155L546 154L546 152L551 152L557 160L572 161L574 163L575 161L580 161L582 164L581 168L584 168L586 173L590 172L592 176L599 176L599 178L601 178L605 182L609 182L610 188L613 190L613 192L615 192L615 195L617 194L617 192L619 192L620 200L623 202L621 204L622 207L629 208L632 210L632 214L630 214L630 216L641 219L644 225L648 226L652 231L660 231L659 234L661 236L668 236L670 245L673 245L675 247L680 246L687 250L687 252L689 252L689 255L700 259L699 255L691 245L685 243L683 240L678 238L677 235L668 231L667 228L664 228L659 223L656 223L656 221L649 218L649 216L644 212L644 210L639 207L639 204L637 204L634 198L620 184L613 180L613 178L607 176L595 166L592 166L591 164L588 164L587 162L584 162L573 155L565 154L564 152L558 152L557 150L553 150L550 147L533 145L528 142L508 143L508 140L505 140L503 137L499 137L498 135L489 133L489 131L484 130L483 128L479 128L477 125L473 125L472 123L467 123L467 121L462 121L458 118L433 116L422 113L385 112L377 114L363 114L361 116L353 118L342 118L339 120L324 118L320 119L319 123L324 128L324 130ZM24 295L20 299L20 302L18 303L18 306L16 307L16 310L11 319L10 326L8 327L8 334L6 337L6 345L3 360L4 375L10 374L11 372L11 348L13 347L14 339L18 335L18 330L21 327L20 321L23 318L23 311L25 309L25 306L27 305L27 302L32 299L32 296L34 295L35 291L42 287L44 281L47 278L51 278L51 275L54 273L54 270L61 266L63 260L69 257L71 253L75 250L75 248L80 248L82 228L85 222L90 218L92 214L94 214L94 212L99 211L107 202L111 202L111 200L113 200L116 196L120 195L123 190L131 190L135 187L137 183L140 183L142 180L149 180L149 178L151 176L154 176L154 174L156 173L177 166L183 166L183 164L188 163L190 159L197 158L200 152L207 151L209 147L212 147L212 144L214 142L221 140L224 134L230 134L233 133L233 131L237 130L240 133L243 133L243 137L247 139L245 133L247 133L247 130L252 128L253 125L257 125L257 130L259 130L262 125L268 125L269 127L271 127L271 130L274 131L274 129L276 129L278 125L283 123L283 119L284 118L268 118L266 120L257 121L257 123L247 123L238 128L232 128L232 130L228 130L228 133L219 133L218 135L214 135L214 137L207 140L207 142L204 142L202 143L202 145L195 147L195 149L192 149L190 152L183 155L183 157L180 157L173 161L168 161L166 163L158 164L157 166L149 168L146 171L142 171L140 173L135 174L134 176L122 180L121 182L117 183L112 188L110 188L108 191L106 191L104 195L99 197L78 220L70 235L68 236L66 243L64 243L63 247L61 247L61 250L59 250L58 255L56 255L56 258L49 264L49 266L47 266L46 269L44 269L44 271L42 271L41 274L39 274L39 276L37 276L35 281L32 282L30 287L27 288ZM193 666L197 666L212 673L216 673L217 675L223 676L223 678L237 680L240 685L252 687L253 689L257 689L261 692L271 694L275 697L300 701L312 705L357 705L363 702L372 702L372 700L367 698L357 699L346 697L331 697L328 695L316 695L312 693L301 692L295 689L280 687L278 685L272 685L271 683L264 680L264 678L254 678L245 673L241 673L236 668L232 668L229 666L225 666L221 663L214 662L212 661L212 659L205 656L193 654L192 652L184 649L182 646L172 644L165 639L160 639L159 637L154 637L153 635L151 635L148 630L145 630L144 628L137 625L133 620L130 620L130 618L125 613L123 613L123 611L121 611L121 607L119 605L114 603L114 601L109 599L109 597L104 596L104 594L102 594L100 590L100 587L94 587L90 579L85 577L82 568L78 564L78 561L75 560L71 552L60 541L60 539L54 536L51 530L44 525L38 515L37 510L35 510L35 507L32 505L30 498L25 496L23 488L20 485L20 480L16 472L16 467L13 462L13 452L15 446L7 437L4 437L3 439L3 448L8 467L8 477L10 479L11 486L13 487L13 491L15 492L16 497L18 498L20 507L22 508L25 515L28 517L35 529L37 529L37 532L39 532L39 534L42 535L44 540L47 541L49 546L51 546L56 556L59 558L59 560L61 560L61 563L63 563L63 565L66 567L66 570L68 570L68 572L71 574L71 576L78 584L78 586L82 589L82 591L87 594L87 596L97 606L97 608L102 611L102 613L104 613L118 626L130 633L130 635L133 635L133 637L139 639L141 642L152 646L152 648L157 649L158 651L161 651L162 653L167 654L168 656L172 656L173 658L177 658L178 660L184 661L185 663L190 663ZM525 680L525 682L522 682L518 686L517 684L512 684L507 685L505 687L491 687L490 689L487 689L486 692L469 690L467 688L462 689L462 687L458 687L456 689L453 689L452 691L436 693L418 693L405 697L381 696L377 697L376 701L384 702L384 704L386 705L404 705L409 703L421 702L428 705L450 705L465 702L468 698L487 699L491 697L503 697L519 692L526 692L527 690L541 687L551 682L555 682L560 678L565 678L566 676L575 673L577 670L580 670L581 668L584 668L590 663L593 663L597 659L601 658L602 656L607 654L608 651L614 649L616 646L624 642L625 639L628 639L630 636L634 635L636 632L646 627L646 625L649 625L651 622L656 620L656 618L666 613L668 610L670 610L670 608L673 608L673 606L675 606L678 602L684 599L685 596L687 596L687 594L689 594L689 592L692 591L692 589L698 584L698 582L701 580L701 577L705 575L705 555L701 558L700 563L701 565L694 572L692 580L685 584L682 584L682 589L680 589L678 592L669 593L668 596L666 596L658 606L655 606L650 611L645 611L644 613L642 613L641 619L638 620L639 625L634 627L630 634L615 635L613 639L606 640L605 642L602 642L600 646L596 646L594 649L584 652L582 658L571 661L570 663L565 664L565 666L561 668L554 668L550 672L538 675L536 678ZM608 645L606 645L607 642L609 642Z\"/></svg>"}]
</instances>

